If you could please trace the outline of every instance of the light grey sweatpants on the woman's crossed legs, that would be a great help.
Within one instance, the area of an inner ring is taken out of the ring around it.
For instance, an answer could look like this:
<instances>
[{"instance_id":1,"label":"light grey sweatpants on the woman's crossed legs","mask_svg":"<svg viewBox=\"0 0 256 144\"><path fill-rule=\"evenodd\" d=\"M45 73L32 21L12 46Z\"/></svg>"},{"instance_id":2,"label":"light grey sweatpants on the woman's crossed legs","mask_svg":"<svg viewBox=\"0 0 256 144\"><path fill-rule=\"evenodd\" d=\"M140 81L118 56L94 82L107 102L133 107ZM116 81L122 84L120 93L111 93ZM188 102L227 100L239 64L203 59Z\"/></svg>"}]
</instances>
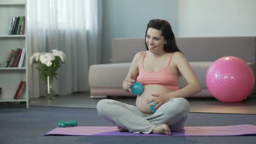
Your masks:
<instances>
[{"instance_id":1,"label":"light grey sweatpants on the woman's crossed legs","mask_svg":"<svg viewBox=\"0 0 256 144\"><path fill-rule=\"evenodd\" d=\"M132 133L149 134L154 127L162 124L167 124L171 131L181 131L187 122L190 105L185 98L172 98L161 105L154 114L146 114L136 106L102 99L98 101L97 111L105 121Z\"/></svg>"}]
</instances>

